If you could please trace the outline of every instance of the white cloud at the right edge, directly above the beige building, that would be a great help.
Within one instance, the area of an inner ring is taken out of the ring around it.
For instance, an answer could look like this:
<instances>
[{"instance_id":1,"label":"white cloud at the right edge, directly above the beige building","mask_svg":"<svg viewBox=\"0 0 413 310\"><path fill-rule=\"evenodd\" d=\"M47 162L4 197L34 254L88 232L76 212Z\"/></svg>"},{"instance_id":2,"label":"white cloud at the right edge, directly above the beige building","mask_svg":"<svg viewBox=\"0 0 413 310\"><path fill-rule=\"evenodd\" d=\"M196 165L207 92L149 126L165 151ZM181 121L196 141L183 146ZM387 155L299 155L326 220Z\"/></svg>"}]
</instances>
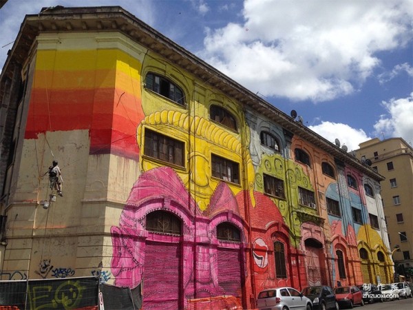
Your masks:
<instances>
[{"instance_id":1,"label":"white cloud at the right edge, directly above the beige building","mask_svg":"<svg viewBox=\"0 0 413 310\"><path fill-rule=\"evenodd\" d=\"M401 137L413 145L413 92L407 98L383 101L382 105L388 114L381 115L374 124L374 134L385 138Z\"/></svg>"}]
</instances>

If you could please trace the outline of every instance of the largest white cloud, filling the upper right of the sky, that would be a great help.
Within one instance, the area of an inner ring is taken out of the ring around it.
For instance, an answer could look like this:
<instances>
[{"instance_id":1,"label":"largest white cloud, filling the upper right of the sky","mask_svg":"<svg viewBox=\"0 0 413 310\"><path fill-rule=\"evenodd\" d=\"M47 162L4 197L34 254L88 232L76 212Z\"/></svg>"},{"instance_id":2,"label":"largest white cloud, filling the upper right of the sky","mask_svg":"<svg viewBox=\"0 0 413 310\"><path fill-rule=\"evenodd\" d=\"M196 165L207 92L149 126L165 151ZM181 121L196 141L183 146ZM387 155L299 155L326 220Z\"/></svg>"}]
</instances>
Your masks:
<instances>
[{"instance_id":1,"label":"largest white cloud, filling the upper right of the sky","mask_svg":"<svg viewBox=\"0 0 413 310\"><path fill-rule=\"evenodd\" d=\"M245 0L245 22L207 32L203 59L253 92L326 101L351 94L411 39L411 0ZM259 69L258 69L259 68Z\"/></svg>"}]
</instances>

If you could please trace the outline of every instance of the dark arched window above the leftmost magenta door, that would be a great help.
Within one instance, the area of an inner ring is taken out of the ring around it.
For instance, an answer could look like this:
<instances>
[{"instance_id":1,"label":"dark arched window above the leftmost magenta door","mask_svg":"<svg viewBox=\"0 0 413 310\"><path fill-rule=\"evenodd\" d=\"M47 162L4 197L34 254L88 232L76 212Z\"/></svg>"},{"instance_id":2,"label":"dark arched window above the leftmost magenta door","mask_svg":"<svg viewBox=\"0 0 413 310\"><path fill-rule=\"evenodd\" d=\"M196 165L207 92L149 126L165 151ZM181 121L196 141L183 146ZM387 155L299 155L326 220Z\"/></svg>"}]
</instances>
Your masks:
<instances>
[{"instance_id":1,"label":"dark arched window above the leftmost magenta door","mask_svg":"<svg viewBox=\"0 0 413 310\"><path fill-rule=\"evenodd\" d=\"M181 220L171 212L153 211L146 217L146 229L153 232L180 235Z\"/></svg>"}]
</instances>

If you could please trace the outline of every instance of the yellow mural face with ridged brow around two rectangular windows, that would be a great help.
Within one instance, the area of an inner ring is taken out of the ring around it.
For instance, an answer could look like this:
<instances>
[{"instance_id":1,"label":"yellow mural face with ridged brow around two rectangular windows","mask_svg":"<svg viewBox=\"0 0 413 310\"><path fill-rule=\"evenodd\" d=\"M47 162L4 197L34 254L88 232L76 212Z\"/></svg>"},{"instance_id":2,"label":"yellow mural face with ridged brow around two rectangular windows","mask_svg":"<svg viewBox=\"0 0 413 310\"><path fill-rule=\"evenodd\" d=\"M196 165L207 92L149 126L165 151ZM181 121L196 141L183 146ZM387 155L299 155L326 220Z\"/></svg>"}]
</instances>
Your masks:
<instances>
[{"instance_id":1,"label":"yellow mural face with ridged brow around two rectangular windows","mask_svg":"<svg viewBox=\"0 0 413 310\"><path fill-rule=\"evenodd\" d=\"M234 195L244 188L253 188L254 172L251 157L248 152L244 151L235 134L218 127L205 118L165 110L147 116L140 123L137 138L141 150L145 149L145 130L147 129L178 141L190 141L185 143L184 165L174 166L174 168L201 210L207 209L213 191L218 183L222 182L220 178L212 176L211 156L213 154L220 154L221 157L237 163L240 172L247 172L245 178L250 181L245 181L242 175L239 183L227 181ZM244 152L244 160L242 152ZM149 158L145 156L145 152L142 153L140 165L143 171L165 165L165 162Z\"/></svg>"}]
</instances>

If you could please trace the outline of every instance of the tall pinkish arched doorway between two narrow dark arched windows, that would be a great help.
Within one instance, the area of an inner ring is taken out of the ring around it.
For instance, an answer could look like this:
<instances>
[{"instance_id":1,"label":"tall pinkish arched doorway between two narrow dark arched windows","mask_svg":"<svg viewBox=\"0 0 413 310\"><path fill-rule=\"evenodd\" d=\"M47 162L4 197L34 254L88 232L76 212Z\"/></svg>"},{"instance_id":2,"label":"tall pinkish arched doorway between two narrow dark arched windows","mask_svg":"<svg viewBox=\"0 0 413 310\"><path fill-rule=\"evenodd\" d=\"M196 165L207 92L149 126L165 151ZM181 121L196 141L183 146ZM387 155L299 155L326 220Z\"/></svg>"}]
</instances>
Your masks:
<instances>
[{"instance_id":1,"label":"tall pinkish arched doorway between two narrow dark arched windows","mask_svg":"<svg viewBox=\"0 0 413 310\"><path fill-rule=\"evenodd\" d=\"M314 238L304 241L306 246L306 269L308 285L326 284L323 245Z\"/></svg>"}]
</instances>

